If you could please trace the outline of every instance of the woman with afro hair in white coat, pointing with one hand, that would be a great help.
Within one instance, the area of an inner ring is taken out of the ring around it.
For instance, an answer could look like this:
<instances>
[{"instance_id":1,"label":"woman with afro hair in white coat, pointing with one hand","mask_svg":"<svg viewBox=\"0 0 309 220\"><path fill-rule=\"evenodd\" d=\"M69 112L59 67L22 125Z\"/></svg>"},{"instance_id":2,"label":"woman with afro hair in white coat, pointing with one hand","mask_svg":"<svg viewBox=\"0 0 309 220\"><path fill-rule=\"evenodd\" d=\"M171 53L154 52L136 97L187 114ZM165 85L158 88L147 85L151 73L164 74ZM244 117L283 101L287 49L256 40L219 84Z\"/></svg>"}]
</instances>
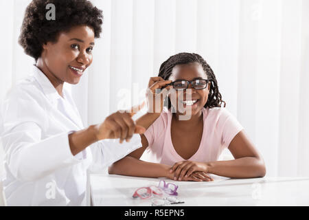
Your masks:
<instances>
[{"instance_id":1,"label":"woman with afro hair in white coat, pointing with one hand","mask_svg":"<svg viewBox=\"0 0 309 220\"><path fill-rule=\"evenodd\" d=\"M135 123L133 113L117 111L85 128L63 87L77 84L91 65L102 19L102 10L87 0L33 0L27 6L19 43L35 64L10 89L0 114L9 206L85 205L87 171L100 170L141 146L139 133L151 117Z\"/></svg>"}]
</instances>

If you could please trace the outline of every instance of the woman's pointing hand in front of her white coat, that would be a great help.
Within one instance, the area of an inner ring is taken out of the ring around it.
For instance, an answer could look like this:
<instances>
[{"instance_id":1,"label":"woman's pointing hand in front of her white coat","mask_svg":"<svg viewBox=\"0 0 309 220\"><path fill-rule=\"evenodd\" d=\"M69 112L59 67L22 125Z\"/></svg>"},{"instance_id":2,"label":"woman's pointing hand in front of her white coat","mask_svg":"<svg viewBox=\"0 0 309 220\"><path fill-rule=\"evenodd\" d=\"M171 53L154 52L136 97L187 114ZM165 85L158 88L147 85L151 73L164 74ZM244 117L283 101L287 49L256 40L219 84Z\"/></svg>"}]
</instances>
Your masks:
<instances>
[{"instance_id":1,"label":"woman's pointing hand in front of her white coat","mask_svg":"<svg viewBox=\"0 0 309 220\"><path fill-rule=\"evenodd\" d=\"M132 116L136 113L133 109L130 112L117 111L109 115L102 124L97 124L95 126L95 137L97 140L119 138L120 143L124 140L129 142L134 133L144 133L146 129L135 124L132 119Z\"/></svg>"}]
</instances>

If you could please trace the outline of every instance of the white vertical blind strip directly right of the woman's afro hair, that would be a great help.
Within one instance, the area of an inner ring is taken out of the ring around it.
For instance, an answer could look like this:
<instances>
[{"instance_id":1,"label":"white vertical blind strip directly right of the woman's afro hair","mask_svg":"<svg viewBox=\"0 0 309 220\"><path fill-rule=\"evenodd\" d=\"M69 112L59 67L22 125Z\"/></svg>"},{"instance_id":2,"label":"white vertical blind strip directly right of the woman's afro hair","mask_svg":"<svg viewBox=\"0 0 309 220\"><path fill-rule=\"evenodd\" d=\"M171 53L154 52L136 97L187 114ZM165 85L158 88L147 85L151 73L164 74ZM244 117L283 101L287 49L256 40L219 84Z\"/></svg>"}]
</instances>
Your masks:
<instances>
[{"instance_id":1,"label":"white vertical blind strip directly right of the woman's afro hair","mask_svg":"<svg viewBox=\"0 0 309 220\"><path fill-rule=\"evenodd\" d=\"M104 120L110 111L111 96L111 0L93 1L96 7L103 10L104 25L100 39L95 40L93 50L93 65L89 68L88 89L88 123L98 124Z\"/></svg>"}]
</instances>

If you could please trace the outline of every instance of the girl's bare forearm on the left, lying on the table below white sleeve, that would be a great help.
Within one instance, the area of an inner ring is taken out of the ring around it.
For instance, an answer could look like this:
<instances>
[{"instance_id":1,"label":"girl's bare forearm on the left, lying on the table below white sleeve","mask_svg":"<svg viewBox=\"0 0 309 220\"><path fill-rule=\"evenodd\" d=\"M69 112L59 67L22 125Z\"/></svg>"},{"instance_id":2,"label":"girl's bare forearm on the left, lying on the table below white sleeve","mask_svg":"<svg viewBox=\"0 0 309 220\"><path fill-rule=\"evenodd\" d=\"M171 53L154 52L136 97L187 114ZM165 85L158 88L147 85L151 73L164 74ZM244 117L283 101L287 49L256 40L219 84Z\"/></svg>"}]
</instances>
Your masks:
<instances>
[{"instance_id":1,"label":"girl's bare forearm on the left, lying on the table below white sleeve","mask_svg":"<svg viewBox=\"0 0 309 220\"><path fill-rule=\"evenodd\" d=\"M170 167L126 156L110 166L108 173L135 177L170 177Z\"/></svg>"}]
</instances>

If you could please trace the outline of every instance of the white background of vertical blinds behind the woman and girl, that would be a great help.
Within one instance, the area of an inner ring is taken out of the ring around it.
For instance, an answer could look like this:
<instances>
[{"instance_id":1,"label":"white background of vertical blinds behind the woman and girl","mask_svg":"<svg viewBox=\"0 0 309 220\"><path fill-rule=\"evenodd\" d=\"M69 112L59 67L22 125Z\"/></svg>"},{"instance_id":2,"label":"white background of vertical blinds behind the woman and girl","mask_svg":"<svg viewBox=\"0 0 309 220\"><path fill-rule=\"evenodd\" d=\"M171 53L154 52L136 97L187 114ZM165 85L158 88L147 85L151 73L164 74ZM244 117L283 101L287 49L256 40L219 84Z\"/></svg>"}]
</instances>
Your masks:
<instances>
[{"instance_id":1,"label":"white background of vertical blinds behind the woman and girl","mask_svg":"<svg viewBox=\"0 0 309 220\"><path fill-rule=\"evenodd\" d=\"M28 0L0 0L0 99L34 60L17 43ZM308 0L97 0L93 65L71 87L85 126L144 98L178 52L201 54L268 176L309 175Z\"/></svg>"}]
</instances>

